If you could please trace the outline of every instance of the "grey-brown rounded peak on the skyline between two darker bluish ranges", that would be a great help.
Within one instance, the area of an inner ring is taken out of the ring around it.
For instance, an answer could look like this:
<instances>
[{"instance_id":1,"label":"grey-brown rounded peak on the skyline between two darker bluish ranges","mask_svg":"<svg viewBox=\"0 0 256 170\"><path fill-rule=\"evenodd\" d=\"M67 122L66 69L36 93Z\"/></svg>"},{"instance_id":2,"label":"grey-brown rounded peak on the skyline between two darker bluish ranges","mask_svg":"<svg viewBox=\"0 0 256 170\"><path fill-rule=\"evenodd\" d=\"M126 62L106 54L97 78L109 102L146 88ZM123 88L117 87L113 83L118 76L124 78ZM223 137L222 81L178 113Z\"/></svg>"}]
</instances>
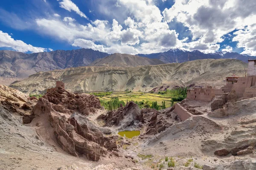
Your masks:
<instances>
[{"instance_id":1,"label":"grey-brown rounded peak on the skyline between two darker bluish ranges","mask_svg":"<svg viewBox=\"0 0 256 170\"><path fill-rule=\"evenodd\" d=\"M108 66L108 67L136 67L139 65L158 65L164 64L159 59L149 59L129 54L111 54L108 57L97 59L90 66Z\"/></svg>"}]
</instances>

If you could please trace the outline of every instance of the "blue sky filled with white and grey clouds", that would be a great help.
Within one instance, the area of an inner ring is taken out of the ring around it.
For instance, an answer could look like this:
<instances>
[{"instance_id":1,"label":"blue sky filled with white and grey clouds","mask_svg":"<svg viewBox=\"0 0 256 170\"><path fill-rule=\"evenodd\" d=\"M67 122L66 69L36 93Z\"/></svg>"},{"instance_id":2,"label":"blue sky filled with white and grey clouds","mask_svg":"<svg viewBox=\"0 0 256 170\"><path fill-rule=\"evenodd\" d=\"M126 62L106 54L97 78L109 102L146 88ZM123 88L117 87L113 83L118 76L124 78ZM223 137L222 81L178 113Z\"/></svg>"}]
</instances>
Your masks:
<instances>
[{"instance_id":1,"label":"blue sky filled with white and grey clouds","mask_svg":"<svg viewBox=\"0 0 256 170\"><path fill-rule=\"evenodd\" d=\"M256 55L256 0L3 0L0 50Z\"/></svg>"}]
</instances>

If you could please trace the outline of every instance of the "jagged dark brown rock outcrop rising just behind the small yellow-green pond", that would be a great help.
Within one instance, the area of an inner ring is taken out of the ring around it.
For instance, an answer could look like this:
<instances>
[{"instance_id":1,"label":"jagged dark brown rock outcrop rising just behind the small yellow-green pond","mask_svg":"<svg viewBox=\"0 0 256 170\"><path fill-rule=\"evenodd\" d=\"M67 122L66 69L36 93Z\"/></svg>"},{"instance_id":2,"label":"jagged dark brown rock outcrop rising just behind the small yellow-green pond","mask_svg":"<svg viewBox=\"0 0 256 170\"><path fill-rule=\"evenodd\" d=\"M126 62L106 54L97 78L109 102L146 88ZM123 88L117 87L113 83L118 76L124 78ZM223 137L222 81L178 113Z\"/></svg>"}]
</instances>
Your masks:
<instances>
[{"instance_id":1,"label":"jagged dark brown rock outcrop rising just behind the small yellow-green pond","mask_svg":"<svg viewBox=\"0 0 256 170\"><path fill-rule=\"evenodd\" d=\"M97 119L104 120L105 126L119 126L120 130L125 130L126 127L132 125L139 126L140 122L144 122L143 113L134 102L129 102L125 107L102 114Z\"/></svg>"}]
</instances>

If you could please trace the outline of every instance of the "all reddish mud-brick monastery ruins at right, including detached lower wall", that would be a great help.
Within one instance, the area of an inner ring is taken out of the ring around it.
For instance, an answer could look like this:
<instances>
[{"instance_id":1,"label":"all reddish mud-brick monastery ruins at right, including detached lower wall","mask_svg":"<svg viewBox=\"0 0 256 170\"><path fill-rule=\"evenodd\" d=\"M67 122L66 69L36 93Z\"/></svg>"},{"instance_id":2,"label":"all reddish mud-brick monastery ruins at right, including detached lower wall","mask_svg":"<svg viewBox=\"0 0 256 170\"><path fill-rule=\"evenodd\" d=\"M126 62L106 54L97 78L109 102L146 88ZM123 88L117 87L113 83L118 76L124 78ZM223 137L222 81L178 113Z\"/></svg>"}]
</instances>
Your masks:
<instances>
[{"instance_id":1,"label":"all reddish mud-brick monastery ruins at right, including detached lower wall","mask_svg":"<svg viewBox=\"0 0 256 170\"><path fill-rule=\"evenodd\" d=\"M212 102L215 97L224 94L226 94L226 96L228 94L236 94L237 101L256 97L256 59L248 60L246 77L237 77L236 75L226 77L226 85L222 88L207 86L206 88L188 89L186 99L200 102ZM191 116L198 115L198 113L195 113L192 109L186 110L186 108L183 108L179 103L175 105L174 111L180 117L181 121L189 119Z\"/></svg>"}]
</instances>

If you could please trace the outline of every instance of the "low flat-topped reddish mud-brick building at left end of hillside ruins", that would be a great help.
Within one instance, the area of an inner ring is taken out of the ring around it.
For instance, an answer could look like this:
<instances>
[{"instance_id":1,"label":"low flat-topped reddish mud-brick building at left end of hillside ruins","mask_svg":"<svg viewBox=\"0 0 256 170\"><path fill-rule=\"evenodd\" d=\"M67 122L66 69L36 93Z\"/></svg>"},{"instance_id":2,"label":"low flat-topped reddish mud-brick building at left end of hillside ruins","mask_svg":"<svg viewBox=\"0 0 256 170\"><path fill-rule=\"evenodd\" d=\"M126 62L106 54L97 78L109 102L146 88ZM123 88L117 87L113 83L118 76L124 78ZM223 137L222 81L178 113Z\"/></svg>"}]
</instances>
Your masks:
<instances>
[{"instance_id":1,"label":"low flat-topped reddish mud-brick building at left end of hillside ruins","mask_svg":"<svg viewBox=\"0 0 256 170\"><path fill-rule=\"evenodd\" d=\"M186 99L210 102L214 97L215 91L213 88L194 88L187 90Z\"/></svg>"}]
</instances>

